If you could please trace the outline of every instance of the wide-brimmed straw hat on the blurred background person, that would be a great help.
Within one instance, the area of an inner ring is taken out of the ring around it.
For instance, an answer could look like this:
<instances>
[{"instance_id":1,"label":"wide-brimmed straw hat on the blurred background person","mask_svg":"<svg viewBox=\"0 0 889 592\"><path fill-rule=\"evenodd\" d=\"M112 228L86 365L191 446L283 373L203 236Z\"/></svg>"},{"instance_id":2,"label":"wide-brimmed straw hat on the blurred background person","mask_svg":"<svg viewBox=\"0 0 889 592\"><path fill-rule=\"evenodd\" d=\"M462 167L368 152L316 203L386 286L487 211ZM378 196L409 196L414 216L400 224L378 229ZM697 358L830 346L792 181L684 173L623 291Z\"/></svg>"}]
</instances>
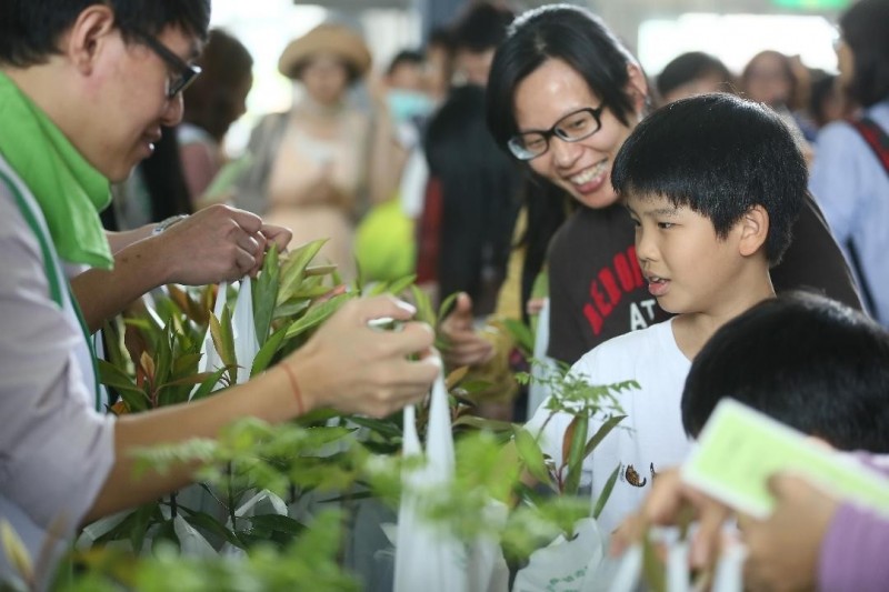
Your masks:
<instances>
[{"instance_id":1,"label":"wide-brimmed straw hat on the blurred background person","mask_svg":"<svg viewBox=\"0 0 889 592\"><path fill-rule=\"evenodd\" d=\"M341 58L356 78L370 69L370 51L361 36L342 24L322 23L284 48L278 70L288 78L297 78L306 60L319 52Z\"/></svg>"}]
</instances>

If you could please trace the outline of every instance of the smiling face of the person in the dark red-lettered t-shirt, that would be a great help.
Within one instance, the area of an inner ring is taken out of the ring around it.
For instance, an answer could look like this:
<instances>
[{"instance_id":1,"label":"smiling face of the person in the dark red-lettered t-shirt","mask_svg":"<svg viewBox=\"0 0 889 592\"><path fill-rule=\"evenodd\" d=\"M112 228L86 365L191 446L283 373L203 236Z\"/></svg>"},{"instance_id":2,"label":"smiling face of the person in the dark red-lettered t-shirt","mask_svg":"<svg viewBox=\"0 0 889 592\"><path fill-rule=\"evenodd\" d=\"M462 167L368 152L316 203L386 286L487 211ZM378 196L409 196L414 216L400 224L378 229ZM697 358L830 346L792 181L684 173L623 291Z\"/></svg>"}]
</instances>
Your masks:
<instances>
[{"instance_id":1,"label":"smiling face of the person in the dark red-lettered t-shirt","mask_svg":"<svg viewBox=\"0 0 889 592\"><path fill-rule=\"evenodd\" d=\"M630 84L639 84L633 70ZM641 98L645 87L636 89ZM531 72L516 88L515 116L519 132L549 130L565 116L583 108L598 108L601 99L568 63L550 59ZM631 124L638 117L629 116ZM565 189L588 208L607 208L617 201L611 188L615 155L632 131L620 122L610 108L601 114L601 128L578 142L557 137L549 140L549 150L528 161L531 169Z\"/></svg>"}]
</instances>

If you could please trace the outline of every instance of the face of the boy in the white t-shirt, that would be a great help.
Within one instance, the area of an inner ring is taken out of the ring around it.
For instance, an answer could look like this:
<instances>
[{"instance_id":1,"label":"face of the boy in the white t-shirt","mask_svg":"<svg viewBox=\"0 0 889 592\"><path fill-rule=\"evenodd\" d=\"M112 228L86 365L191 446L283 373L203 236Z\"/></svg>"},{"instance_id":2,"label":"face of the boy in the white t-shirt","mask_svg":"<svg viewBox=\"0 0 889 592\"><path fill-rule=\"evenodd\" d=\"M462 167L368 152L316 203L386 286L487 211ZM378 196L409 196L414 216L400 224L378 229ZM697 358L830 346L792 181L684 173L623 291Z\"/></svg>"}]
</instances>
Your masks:
<instances>
[{"instance_id":1,"label":"face of the boy in the white t-shirt","mask_svg":"<svg viewBox=\"0 0 889 592\"><path fill-rule=\"evenodd\" d=\"M639 265L660 308L711 312L737 300L740 224L722 240L708 218L663 197L628 194L625 203L636 225Z\"/></svg>"}]
</instances>

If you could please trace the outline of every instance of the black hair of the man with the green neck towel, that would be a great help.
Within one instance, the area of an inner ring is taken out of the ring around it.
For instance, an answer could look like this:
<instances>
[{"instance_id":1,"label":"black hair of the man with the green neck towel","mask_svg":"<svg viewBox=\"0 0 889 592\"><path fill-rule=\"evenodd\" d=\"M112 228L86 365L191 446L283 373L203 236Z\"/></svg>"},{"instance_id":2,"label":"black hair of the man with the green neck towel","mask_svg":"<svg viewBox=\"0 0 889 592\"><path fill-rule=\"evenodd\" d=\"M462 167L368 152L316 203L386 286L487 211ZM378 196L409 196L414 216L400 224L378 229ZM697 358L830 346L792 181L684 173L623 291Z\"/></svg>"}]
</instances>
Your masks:
<instances>
[{"instance_id":1,"label":"black hair of the man with the green neck towel","mask_svg":"<svg viewBox=\"0 0 889 592\"><path fill-rule=\"evenodd\" d=\"M158 34L178 27L200 39L210 26L210 0L3 0L0 2L0 63L27 68L58 53L59 38L92 4L114 11L123 39L134 31Z\"/></svg>"}]
</instances>

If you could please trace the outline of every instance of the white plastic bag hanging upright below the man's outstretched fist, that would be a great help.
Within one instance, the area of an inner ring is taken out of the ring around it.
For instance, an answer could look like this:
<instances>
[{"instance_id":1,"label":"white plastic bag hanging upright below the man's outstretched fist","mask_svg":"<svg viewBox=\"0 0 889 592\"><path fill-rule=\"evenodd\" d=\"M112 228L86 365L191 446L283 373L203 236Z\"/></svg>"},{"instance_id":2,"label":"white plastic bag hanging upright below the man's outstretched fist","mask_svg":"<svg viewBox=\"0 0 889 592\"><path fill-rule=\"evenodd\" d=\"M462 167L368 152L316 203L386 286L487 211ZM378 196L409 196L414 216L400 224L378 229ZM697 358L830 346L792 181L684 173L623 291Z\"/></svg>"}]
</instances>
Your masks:
<instances>
[{"instance_id":1,"label":"white plastic bag hanging upright below the man's outstretched fist","mask_svg":"<svg viewBox=\"0 0 889 592\"><path fill-rule=\"evenodd\" d=\"M404 409L404 458L422 454L413 407ZM448 486L453 479L453 435L444 380L432 387L426 464L403 475L404 492L398 512L394 592L468 592L463 545L444 524L430 524L420 508L423 491Z\"/></svg>"}]
</instances>

